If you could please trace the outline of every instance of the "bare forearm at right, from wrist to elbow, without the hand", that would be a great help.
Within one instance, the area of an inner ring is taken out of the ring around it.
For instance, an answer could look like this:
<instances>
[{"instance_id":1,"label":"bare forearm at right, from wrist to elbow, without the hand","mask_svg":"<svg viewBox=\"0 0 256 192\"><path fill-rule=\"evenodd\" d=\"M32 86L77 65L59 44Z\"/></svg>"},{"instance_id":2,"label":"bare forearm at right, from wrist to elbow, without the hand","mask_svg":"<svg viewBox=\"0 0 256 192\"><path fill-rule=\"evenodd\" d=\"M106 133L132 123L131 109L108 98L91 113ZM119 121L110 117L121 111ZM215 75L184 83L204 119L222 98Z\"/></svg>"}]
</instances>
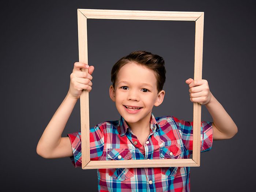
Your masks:
<instances>
[{"instance_id":1,"label":"bare forearm at right, from wrist to elbow, without the hand","mask_svg":"<svg viewBox=\"0 0 256 192\"><path fill-rule=\"evenodd\" d=\"M206 105L207 110L212 116L215 127L229 137L237 133L237 126L223 108L221 103L211 94L211 100Z\"/></svg>"}]
</instances>

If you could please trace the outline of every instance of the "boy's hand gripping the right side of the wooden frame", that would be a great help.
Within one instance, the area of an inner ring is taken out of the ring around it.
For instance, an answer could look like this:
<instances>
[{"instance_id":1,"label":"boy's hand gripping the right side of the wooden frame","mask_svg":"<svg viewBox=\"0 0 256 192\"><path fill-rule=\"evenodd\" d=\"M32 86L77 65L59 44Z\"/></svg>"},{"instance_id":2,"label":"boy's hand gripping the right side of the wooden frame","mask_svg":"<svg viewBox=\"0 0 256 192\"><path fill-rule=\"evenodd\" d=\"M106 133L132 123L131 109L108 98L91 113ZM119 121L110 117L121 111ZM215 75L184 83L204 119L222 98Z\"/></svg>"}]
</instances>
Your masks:
<instances>
[{"instance_id":1,"label":"boy's hand gripping the right side of the wooden frame","mask_svg":"<svg viewBox=\"0 0 256 192\"><path fill-rule=\"evenodd\" d=\"M188 90L190 93L190 101L200 103L201 105L205 105L211 101L212 94L206 79L194 81L189 78L185 83L190 87Z\"/></svg>"}]
</instances>

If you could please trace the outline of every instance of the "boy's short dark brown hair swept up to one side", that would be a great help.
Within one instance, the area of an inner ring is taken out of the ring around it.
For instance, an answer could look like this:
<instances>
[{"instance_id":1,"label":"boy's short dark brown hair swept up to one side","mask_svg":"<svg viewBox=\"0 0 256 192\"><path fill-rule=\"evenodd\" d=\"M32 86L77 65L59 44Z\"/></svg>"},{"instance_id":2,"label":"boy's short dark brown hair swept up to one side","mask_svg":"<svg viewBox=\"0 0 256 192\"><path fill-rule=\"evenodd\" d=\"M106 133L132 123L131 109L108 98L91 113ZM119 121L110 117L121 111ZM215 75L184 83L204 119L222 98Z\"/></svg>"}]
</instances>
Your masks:
<instances>
[{"instance_id":1,"label":"boy's short dark brown hair swept up to one side","mask_svg":"<svg viewBox=\"0 0 256 192\"><path fill-rule=\"evenodd\" d=\"M157 91L158 93L163 90L163 84L165 83L165 60L163 57L152 54L150 52L146 52L144 50L133 51L127 56L119 59L112 67L111 70L111 82L113 83L113 87L115 89L115 83L117 79L117 74L120 71L121 67L123 67L127 63L135 62L138 65L142 65L151 69L155 78L157 79Z\"/></svg>"}]
</instances>

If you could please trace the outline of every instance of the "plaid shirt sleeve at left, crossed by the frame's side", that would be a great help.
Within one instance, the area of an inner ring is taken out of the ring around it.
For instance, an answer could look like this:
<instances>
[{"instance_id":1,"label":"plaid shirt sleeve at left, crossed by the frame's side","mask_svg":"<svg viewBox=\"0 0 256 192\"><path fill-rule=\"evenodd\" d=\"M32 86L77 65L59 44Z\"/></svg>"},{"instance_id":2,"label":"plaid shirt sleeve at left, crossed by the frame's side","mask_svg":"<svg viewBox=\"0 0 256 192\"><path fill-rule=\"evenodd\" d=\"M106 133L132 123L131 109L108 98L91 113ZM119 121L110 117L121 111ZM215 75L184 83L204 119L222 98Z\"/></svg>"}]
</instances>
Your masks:
<instances>
[{"instance_id":1,"label":"plaid shirt sleeve at left, crossed by the frame's side","mask_svg":"<svg viewBox=\"0 0 256 192\"><path fill-rule=\"evenodd\" d=\"M68 133L70 139L73 156L71 159L74 167L82 167L82 145L81 132ZM96 125L90 128L90 160L98 161L103 153L104 134L102 127Z\"/></svg>"}]
</instances>

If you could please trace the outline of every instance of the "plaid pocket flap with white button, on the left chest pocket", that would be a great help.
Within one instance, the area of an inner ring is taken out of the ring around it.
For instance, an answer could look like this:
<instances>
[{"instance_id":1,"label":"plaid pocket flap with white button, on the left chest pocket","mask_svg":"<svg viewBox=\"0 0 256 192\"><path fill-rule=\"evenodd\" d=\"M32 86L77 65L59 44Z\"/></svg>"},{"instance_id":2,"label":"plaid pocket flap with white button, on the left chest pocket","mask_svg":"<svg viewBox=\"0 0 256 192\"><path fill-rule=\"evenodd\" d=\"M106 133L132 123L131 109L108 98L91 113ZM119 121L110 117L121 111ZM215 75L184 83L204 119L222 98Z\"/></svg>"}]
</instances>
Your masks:
<instances>
[{"instance_id":1,"label":"plaid pocket flap with white button, on the left chest pocket","mask_svg":"<svg viewBox=\"0 0 256 192\"><path fill-rule=\"evenodd\" d=\"M114 160L127 160L132 158L130 148L109 148L108 158Z\"/></svg>"}]
</instances>

